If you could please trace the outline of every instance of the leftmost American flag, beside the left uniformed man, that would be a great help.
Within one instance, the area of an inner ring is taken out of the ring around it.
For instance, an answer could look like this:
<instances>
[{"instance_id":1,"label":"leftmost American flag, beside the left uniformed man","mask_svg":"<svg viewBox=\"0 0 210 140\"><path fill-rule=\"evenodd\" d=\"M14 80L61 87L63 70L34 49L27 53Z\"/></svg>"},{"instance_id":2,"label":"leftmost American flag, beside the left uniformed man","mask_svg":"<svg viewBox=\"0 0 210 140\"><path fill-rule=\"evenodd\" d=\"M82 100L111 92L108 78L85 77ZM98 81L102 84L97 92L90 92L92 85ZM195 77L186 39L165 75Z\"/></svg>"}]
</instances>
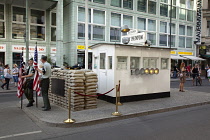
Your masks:
<instances>
[{"instance_id":1,"label":"leftmost American flag, beside the left uniformed man","mask_svg":"<svg viewBox=\"0 0 210 140\"><path fill-rule=\"evenodd\" d=\"M24 83L24 78L21 78L21 76L24 73L24 64L23 64L23 51L21 54L21 64L20 64L20 69L19 69L19 77L18 77L18 90L17 90L17 96L18 98L20 98L23 93L24 93L24 89L23 89L23 83Z\"/></svg>"}]
</instances>

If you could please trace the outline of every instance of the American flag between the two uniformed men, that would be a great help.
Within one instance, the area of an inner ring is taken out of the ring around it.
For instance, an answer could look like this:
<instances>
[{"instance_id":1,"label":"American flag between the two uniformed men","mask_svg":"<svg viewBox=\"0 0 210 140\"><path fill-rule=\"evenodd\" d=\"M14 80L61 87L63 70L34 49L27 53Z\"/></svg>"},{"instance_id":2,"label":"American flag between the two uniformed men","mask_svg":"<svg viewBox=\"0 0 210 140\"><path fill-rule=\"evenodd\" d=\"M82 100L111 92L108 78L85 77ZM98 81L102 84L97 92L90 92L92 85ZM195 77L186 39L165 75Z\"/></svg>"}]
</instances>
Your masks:
<instances>
[{"instance_id":1,"label":"American flag between the two uniformed men","mask_svg":"<svg viewBox=\"0 0 210 140\"><path fill-rule=\"evenodd\" d=\"M37 51L37 45L35 46L35 52L34 52L34 69L38 68L38 51ZM36 93L40 96L41 91L39 87L39 72L36 70L34 75L34 82L33 82L33 90L36 91Z\"/></svg>"}]
</instances>

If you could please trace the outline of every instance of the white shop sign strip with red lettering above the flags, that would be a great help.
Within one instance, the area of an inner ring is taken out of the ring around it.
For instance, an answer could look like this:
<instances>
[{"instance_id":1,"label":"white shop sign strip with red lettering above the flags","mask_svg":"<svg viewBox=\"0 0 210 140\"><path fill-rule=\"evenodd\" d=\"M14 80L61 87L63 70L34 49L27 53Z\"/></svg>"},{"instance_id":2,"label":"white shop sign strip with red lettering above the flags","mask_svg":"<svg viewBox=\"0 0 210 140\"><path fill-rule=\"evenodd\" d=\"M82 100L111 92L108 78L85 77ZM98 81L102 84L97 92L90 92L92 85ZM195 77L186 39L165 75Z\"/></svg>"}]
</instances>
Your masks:
<instances>
[{"instance_id":1,"label":"white shop sign strip with red lettering above the flags","mask_svg":"<svg viewBox=\"0 0 210 140\"><path fill-rule=\"evenodd\" d=\"M17 45L13 45L12 46L12 51L13 52L25 52L26 51L26 47L25 46L17 46ZM29 52L34 52L35 51L35 46L29 46ZM37 47L37 51L38 52L46 52L46 48L45 47Z\"/></svg>"}]
</instances>

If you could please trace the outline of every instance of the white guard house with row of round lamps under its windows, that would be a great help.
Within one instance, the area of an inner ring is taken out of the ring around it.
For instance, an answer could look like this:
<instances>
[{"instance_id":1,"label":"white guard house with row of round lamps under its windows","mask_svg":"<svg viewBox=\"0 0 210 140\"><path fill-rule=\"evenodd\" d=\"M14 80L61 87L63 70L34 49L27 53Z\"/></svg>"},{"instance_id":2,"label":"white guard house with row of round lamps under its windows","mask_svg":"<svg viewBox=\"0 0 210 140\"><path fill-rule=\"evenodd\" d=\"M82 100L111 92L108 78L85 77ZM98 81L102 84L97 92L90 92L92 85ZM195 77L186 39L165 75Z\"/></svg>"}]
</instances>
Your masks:
<instances>
[{"instance_id":1,"label":"white guard house with row of round lamps under its windows","mask_svg":"<svg viewBox=\"0 0 210 140\"><path fill-rule=\"evenodd\" d=\"M99 43L91 46L98 93L121 81L121 102L170 97L170 48ZM115 102L115 90L101 96Z\"/></svg>"}]
</instances>

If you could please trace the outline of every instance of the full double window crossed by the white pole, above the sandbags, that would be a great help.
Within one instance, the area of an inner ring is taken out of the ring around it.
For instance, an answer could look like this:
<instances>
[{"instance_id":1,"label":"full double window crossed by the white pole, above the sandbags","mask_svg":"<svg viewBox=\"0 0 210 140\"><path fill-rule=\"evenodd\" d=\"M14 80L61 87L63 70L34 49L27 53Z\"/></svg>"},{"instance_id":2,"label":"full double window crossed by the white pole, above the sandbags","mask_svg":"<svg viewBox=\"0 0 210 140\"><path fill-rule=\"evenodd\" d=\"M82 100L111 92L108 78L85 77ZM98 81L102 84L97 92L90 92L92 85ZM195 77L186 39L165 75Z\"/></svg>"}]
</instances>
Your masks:
<instances>
[{"instance_id":1,"label":"full double window crossed by the white pole, above the sandbags","mask_svg":"<svg viewBox=\"0 0 210 140\"><path fill-rule=\"evenodd\" d=\"M105 11L89 9L90 40L105 41ZM85 8L78 7L78 39L85 38Z\"/></svg>"}]
</instances>

